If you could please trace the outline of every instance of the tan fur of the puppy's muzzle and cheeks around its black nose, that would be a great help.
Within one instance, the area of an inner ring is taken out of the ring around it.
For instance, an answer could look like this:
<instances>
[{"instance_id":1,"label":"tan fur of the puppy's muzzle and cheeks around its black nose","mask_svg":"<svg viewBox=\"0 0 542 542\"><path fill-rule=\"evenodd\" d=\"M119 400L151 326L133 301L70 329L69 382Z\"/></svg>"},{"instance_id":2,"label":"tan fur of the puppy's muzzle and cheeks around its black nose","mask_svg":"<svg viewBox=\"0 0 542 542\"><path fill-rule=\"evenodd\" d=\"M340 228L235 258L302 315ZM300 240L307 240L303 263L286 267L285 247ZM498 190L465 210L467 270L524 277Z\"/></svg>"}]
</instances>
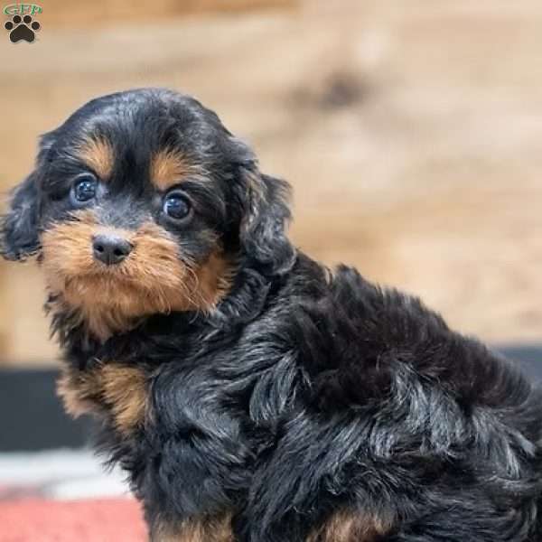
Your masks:
<instances>
[{"instance_id":1,"label":"tan fur of the puppy's muzzle and cheeks around its black nose","mask_svg":"<svg viewBox=\"0 0 542 542\"><path fill-rule=\"evenodd\" d=\"M134 246L118 266L92 257L91 239L113 232ZM94 213L80 211L74 220L42 234L42 268L59 308L75 311L98 339L123 332L153 313L211 311L228 293L231 266L217 249L207 261L183 262L168 232L154 222L135 231L98 224ZM52 307L55 310L55 307Z\"/></svg>"}]
</instances>

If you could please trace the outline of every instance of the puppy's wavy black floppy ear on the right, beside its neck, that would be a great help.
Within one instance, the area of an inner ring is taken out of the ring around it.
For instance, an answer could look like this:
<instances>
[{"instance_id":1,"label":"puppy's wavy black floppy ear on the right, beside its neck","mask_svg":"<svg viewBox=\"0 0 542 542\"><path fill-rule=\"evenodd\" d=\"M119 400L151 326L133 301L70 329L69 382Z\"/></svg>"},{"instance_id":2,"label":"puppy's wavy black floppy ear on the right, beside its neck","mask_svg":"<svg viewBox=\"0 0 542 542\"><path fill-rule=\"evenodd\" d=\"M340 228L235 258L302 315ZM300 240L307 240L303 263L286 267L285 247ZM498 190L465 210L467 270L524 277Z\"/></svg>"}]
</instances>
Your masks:
<instances>
[{"instance_id":1,"label":"puppy's wavy black floppy ear on the right, beside its neck","mask_svg":"<svg viewBox=\"0 0 542 542\"><path fill-rule=\"evenodd\" d=\"M284 274L295 261L295 248L286 236L291 219L290 185L260 173L256 164L242 166L246 200L239 239L246 257L272 274Z\"/></svg>"}]
</instances>

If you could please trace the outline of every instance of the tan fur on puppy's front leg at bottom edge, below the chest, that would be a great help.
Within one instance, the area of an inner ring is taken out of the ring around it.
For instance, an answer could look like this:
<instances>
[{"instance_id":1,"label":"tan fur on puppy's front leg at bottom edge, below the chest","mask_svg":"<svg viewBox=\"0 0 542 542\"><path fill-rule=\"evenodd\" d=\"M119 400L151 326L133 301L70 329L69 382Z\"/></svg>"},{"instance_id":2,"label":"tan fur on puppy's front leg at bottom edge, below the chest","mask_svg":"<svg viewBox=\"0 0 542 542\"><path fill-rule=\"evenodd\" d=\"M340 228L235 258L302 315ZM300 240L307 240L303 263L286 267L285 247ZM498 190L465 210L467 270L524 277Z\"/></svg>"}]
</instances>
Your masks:
<instances>
[{"instance_id":1,"label":"tan fur on puppy's front leg at bottom edge, below the chest","mask_svg":"<svg viewBox=\"0 0 542 542\"><path fill-rule=\"evenodd\" d=\"M153 529L151 542L234 542L231 516L188 519L177 526L164 522Z\"/></svg>"}]
</instances>

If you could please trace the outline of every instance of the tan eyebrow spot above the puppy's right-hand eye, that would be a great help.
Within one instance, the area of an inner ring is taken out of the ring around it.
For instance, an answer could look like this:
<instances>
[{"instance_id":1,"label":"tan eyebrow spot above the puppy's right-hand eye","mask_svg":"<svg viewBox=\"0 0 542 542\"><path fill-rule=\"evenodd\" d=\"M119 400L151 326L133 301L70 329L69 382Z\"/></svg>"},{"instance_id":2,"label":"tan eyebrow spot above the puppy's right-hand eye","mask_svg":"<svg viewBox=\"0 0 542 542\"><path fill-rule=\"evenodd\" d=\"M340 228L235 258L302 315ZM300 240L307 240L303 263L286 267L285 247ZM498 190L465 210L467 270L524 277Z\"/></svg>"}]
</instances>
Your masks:
<instances>
[{"instance_id":1,"label":"tan eyebrow spot above the puppy's right-hand eye","mask_svg":"<svg viewBox=\"0 0 542 542\"><path fill-rule=\"evenodd\" d=\"M203 172L181 152L163 149L152 156L149 173L154 187L164 192L187 177L201 177Z\"/></svg>"}]
</instances>

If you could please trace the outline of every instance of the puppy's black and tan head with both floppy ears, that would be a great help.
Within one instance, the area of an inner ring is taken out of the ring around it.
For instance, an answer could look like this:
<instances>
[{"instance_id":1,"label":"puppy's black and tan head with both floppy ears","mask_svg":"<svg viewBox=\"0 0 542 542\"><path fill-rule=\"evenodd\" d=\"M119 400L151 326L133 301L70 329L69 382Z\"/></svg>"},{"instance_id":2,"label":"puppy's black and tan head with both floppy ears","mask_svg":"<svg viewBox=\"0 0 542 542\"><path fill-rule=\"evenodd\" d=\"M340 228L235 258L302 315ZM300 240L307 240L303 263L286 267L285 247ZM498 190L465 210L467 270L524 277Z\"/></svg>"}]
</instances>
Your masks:
<instances>
[{"instance_id":1,"label":"puppy's black and tan head with both floppy ears","mask_svg":"<svg viewBox=\"0 0 542 542\"><path fill-rule=\"evenodd\" d=\"M2 251L37 255L51 294L107 337L147 314L211 310L239 262L284 273L294 261L286 196L196 100L127 91L42 137Z\"/></svg>"}]
</instances>

